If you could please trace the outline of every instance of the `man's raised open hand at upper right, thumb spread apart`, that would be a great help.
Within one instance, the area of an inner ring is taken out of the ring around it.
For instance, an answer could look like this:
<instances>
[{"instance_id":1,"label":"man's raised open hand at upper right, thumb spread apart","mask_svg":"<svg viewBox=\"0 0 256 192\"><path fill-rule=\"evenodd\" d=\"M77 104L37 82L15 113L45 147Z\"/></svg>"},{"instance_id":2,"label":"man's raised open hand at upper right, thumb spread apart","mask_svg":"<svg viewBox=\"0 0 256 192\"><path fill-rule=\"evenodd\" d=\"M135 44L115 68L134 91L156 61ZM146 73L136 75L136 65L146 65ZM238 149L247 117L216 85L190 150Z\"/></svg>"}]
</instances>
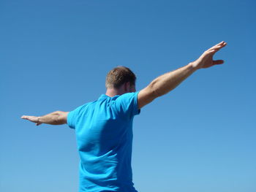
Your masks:
<instances>
[{"instance_id":1,"label":"man's raised open hand at upper right, thumb spread apart","mask_svg":"<svg viewBox=\"0 0 256 192\"><path fill-rule=\"evenodd\" d=\"M200 55L200 58L192 62L192 66L195 67L195 69L202 69L214 65L224 64L223 60L214 61L213 57L214 54L217 53L218 50L222 49L222 47L225 47L225 45L227 45L226 42L220 42L219 44L214 45L214 47L211 47L210 49L206 50L202 55Z\"/></svg>"}]
</instances>

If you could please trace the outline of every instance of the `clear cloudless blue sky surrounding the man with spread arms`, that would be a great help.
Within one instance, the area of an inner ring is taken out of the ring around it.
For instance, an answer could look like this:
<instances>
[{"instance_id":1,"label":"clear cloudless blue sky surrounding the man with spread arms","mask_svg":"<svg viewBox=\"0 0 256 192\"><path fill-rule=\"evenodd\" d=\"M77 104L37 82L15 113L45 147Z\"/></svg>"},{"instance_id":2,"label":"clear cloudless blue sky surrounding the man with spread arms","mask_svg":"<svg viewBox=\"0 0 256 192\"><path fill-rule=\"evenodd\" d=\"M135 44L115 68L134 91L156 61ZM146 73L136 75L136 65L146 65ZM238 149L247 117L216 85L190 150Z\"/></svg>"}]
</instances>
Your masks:
<instances>
[{"instance_id":1,"label":"clear cloudless blue sky surrounding the man with spread arms","mask_svg":"<svg viewBox=\"0 0 256 192\"><path fill-rule=\"evenodd\" d=\"M256 191L255 1L0 1L0 191L78 190L75 132L21 115L70 111L128 66L137 89L227 42L134 120L135 187Z\"/></svg>"}]
</instances>

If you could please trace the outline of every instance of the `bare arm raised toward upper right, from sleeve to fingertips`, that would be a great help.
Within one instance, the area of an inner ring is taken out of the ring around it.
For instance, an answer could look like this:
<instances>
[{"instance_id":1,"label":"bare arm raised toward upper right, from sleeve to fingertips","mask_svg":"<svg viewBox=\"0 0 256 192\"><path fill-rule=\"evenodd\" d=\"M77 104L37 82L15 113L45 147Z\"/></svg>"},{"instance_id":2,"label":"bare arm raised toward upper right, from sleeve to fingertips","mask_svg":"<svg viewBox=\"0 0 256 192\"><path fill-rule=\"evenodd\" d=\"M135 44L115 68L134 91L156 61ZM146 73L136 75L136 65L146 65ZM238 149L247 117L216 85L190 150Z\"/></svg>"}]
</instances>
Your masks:
<instances>
[{"instance_id":1,"label":"bare arm raised toward upper right, from sleeve to fingertips","mask_svg":"<svg viewBox=\"0 0 256 192\"><path fill-rule=\"evenodd\" d=\"M214 45L214 47L206 50L196 61L193 61L180 69L176 69L173 72L168 72L157 77L138 94L139 109L146 104L149 104L157 97L172 91L197 69L208 68L217 64L224 64L223 60L214 61L213 56L214 53L217 53L217 51L222 47L225 47L225 45L227 45L226 42L220 42L219 44Z\"/></svg>"}]
</instances>

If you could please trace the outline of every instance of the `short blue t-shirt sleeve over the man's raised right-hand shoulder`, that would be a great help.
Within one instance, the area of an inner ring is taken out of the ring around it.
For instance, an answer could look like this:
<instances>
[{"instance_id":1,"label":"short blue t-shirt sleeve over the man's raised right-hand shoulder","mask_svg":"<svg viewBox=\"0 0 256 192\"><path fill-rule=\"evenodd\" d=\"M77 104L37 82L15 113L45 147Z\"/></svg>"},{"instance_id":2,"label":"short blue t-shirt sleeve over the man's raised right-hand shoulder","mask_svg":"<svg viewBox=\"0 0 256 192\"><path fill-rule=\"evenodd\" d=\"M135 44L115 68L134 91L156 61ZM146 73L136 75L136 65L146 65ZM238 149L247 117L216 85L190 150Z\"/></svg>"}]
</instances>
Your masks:
<instances>
[{"instance_id":1,"label":"short blue t-shirt sleeve over the man's raised right-hand shoulder","mask_svg":"<svg viewBox=\"0 0 256 192\"><path fill-rule=\"evenodd\" d=\"M138 93L124 93L118 96L116 101L114 101L115 110L129 118L140 114L140 109L138 109Z\"/></svg>"}]
</instances>

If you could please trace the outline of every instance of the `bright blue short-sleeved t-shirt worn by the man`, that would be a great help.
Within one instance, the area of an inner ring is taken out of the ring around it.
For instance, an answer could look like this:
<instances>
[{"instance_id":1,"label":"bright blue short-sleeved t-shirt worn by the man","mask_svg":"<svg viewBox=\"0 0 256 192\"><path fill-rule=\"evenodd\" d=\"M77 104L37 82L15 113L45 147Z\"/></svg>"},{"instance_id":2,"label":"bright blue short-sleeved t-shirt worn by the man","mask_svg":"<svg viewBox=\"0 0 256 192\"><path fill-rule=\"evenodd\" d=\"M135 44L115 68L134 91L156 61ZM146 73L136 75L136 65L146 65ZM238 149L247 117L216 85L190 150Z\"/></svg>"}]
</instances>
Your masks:
<instances>
[{"instance_id":1,"label":"bright blue short-sleeved t-shirt worn by the man","mask_svg":"<svg viewBox=\"0 0 256 192\"><path fill-rule=\"evenodd\" d=\"M132 183L132 120L138 115L138 92L84 104L69 112L80 155L79 192L135 192Z\"/></svg>"}]
</instances>

